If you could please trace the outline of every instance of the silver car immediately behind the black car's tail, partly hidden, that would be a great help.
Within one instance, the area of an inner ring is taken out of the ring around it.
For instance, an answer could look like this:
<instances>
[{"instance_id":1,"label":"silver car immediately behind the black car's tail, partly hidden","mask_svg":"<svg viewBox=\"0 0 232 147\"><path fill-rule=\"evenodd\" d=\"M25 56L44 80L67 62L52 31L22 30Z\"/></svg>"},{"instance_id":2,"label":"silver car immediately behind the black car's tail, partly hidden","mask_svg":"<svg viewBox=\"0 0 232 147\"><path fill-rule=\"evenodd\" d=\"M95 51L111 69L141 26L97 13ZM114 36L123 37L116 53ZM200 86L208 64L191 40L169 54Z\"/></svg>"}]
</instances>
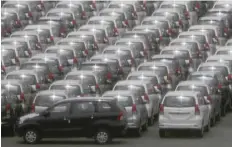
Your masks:
<instances>
[{"instance_id":1,"label":"silver car immediately behind the black car's tail, partly hidden","mask_svg":"<svg viewBox=\"0 0 232 147\"><path fill-rule=\"evenodd\" d=\"M141 131L148 129L148 113L138 91L107 91L102 97L114 98L127 111L128 128L134 130L137 136L141 136Z\"/></svg>"}]
</instances>

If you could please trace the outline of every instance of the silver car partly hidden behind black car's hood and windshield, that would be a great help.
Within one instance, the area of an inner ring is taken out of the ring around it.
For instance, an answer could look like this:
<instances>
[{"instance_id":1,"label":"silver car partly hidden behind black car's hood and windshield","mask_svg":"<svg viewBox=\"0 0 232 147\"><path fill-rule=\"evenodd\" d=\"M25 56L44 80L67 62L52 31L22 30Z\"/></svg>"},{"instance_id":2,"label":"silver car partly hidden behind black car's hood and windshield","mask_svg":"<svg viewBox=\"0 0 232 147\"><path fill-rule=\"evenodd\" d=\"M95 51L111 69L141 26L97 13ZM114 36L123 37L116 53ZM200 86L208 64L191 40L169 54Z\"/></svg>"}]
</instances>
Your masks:
<instances>
[{"instance_id":1,"label":"silver car partly hidden behind black car's hood and windshield","mask_svg":"<svg viewBox=\"0 0 232 147\"><path fill-rule=\"evenodd\" d=\"M31 106L31 112L40 113L46 110L53 104L67 99L68 95L65 90L44 90L36 94L33 104Z\"/></svg>"}]
</instances>

